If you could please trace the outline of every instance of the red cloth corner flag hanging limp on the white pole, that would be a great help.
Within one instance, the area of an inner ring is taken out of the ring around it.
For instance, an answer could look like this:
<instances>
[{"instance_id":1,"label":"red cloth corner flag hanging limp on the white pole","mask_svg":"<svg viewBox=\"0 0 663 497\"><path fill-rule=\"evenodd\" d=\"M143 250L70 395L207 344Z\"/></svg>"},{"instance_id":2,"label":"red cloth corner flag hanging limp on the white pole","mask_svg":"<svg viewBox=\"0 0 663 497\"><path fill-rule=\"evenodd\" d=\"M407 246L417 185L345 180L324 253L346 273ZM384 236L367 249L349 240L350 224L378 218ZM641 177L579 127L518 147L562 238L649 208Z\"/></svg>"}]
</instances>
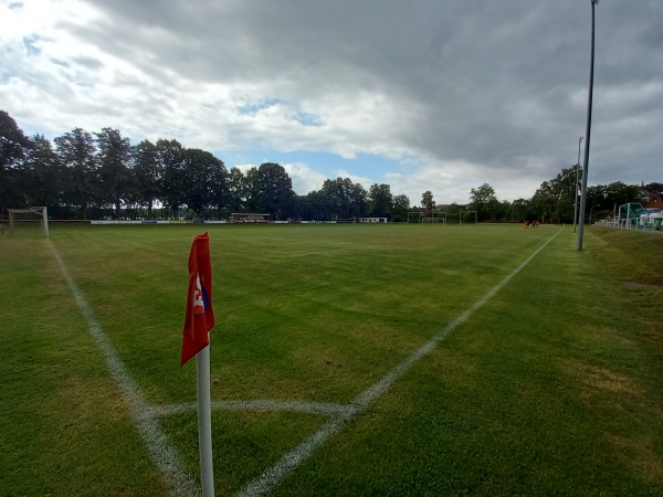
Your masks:
<instances>
[{"instance_id":1,"label":"red cloth corner flag hanging limp on the white pole","mask_svg":"<svg viewBox=\"0 0 663 497\"><path fill-rule=\"evenodd\" d=\"M213 327L212 262L210 260L210 236L206 232L193 239L189 254L189 290L182 330L180 367L210 345L209 331Z\"/></svg>"}]
</instances>

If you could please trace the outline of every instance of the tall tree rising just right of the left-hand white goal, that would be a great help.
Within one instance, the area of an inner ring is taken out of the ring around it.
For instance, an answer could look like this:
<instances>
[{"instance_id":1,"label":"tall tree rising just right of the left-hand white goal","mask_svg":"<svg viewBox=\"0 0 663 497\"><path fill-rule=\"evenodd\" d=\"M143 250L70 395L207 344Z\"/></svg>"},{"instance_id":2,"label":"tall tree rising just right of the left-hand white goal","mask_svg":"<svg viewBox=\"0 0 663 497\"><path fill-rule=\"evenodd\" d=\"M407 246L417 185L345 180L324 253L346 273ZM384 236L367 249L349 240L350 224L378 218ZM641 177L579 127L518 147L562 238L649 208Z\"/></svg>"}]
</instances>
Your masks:
<instances>
[{"instance_id":1,"label":"tall tree rising just right of the left-hand white goal","mask_svg":"<svg viewBox=\"0 0 663 497\"><path fill-rule=\"evenodd\" d=\"M65 203L75 209L76 216L87 219L87 210L101 192L94 138L86 130L74 128L54 141L65 171Z\"/></svg>"}]
</instances>

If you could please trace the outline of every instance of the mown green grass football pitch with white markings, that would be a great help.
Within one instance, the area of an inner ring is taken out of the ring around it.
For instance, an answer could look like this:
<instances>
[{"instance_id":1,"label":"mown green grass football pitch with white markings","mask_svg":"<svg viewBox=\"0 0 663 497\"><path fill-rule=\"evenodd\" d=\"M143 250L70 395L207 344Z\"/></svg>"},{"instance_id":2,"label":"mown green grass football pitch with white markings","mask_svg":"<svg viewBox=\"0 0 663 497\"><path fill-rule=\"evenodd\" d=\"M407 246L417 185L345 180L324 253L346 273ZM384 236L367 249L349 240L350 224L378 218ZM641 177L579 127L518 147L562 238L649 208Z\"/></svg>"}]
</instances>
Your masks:
<instances>
[{"instance_id":1,"label":"mown green grass football pitch with white markings","mask_svg":"<svg viewBox=\"0 0 663 497\"><path fill-rule=\"evenodd\" d=\"M590 228L578 252L549 225L6 230L0 495L199 485L179 358L204 230L217 495L273 473L276 496L663 495L663 236Z\"/></svg>"}]
</instances>

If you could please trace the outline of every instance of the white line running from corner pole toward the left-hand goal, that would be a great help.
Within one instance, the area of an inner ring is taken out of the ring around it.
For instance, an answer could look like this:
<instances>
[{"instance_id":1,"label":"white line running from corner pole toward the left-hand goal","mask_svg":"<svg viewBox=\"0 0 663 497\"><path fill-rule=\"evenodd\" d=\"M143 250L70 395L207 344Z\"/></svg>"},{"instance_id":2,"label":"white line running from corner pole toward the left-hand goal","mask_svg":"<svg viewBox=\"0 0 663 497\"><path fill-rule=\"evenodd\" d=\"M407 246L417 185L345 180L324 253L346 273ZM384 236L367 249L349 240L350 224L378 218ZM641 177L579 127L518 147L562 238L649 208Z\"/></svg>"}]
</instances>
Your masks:
<instances>
[{"instance_id":1,"label":"white line running from corner pole toward the left-hand goal","mask_svg":"<svg viewBox=\"0 0 663 497\"><path fill-rule=\"evenodd\" d=\"M90 334L93 336L97 347L102 351L102 355L106 360L106 366L115 379L115 382L122 392L122 396L129 406L129 412L131 413L134 423L136 423L138 433L143 437L143 442L157 466L157 469L164 477L170 494L175 496L198 495L200 493L198 486L182 469L182 464L175 447L172 447L166 438L159 422L151 415L143 394L140 393L140 389L117 355L115 347L113 347L113 343L110 343L110 340L108 340L108 337L106 337L104 330L94 318L94 313L87 305L81 289L62 262L62 258L51 240L49 240L49 245L51 245L51 250L55 255L55 260L60 265L60 269L66 279L70 290L78 305L81 314L87 321Z\"/></svg>"}]
</instances>

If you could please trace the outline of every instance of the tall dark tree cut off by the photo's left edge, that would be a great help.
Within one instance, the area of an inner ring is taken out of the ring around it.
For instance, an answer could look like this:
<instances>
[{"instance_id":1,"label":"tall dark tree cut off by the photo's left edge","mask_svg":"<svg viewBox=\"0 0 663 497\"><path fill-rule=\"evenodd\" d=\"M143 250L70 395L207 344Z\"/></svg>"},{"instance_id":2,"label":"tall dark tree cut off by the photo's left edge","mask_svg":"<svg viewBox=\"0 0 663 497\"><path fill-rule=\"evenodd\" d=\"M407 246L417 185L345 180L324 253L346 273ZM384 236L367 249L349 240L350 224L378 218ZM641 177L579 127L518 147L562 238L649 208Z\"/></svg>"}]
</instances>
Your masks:
<instances>
[{"instance_id":1,"label":"tall dark tree cut off by the photo's left edge","mask_svg":"<svg viewBox=\"0 0 663 497\"><path fill-rule=\"evenodd\" d=\"M0 205L19 207L24 203L19 166L30 147L30 139L17 121L0 110Z\"/></svg>"}]
</instances>

